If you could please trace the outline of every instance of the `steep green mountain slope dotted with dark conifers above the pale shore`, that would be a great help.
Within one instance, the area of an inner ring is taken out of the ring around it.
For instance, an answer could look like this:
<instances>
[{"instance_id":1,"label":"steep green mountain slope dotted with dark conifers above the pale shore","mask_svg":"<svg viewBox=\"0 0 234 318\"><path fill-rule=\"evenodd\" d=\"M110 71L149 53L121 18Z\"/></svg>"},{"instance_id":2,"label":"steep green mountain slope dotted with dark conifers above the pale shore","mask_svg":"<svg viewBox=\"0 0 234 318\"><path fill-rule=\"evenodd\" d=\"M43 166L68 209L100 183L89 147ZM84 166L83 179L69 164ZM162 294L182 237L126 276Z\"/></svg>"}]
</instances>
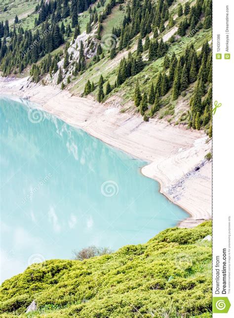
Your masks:
<instances>
[{"instance_id":1,"label":"steep green mountain slope dotted with dark conifers above the pale shore","mask_svg":"<svg viewBox=\"0 0 234 318\"><path fill-rule=\"evenodd\" d=\"M2 22L0 67L211 137L211 24L211 0L42 0Z\"/></svg>"}]
</instances>

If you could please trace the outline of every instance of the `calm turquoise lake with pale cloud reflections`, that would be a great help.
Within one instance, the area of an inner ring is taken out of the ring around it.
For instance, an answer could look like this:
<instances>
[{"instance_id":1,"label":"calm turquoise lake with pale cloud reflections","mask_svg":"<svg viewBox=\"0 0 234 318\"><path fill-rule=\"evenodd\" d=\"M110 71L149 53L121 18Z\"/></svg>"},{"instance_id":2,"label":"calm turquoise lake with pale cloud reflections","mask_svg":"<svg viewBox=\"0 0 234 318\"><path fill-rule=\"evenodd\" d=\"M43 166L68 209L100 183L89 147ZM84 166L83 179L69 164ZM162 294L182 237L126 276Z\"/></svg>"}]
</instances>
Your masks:
<instances>
[{"instance_id":1,"label":"calm turquoise lake with pale cloud reflections","mask_svg":"<svg viewBox=\"0 0 234 318\"><path fill-rule=\"evenodd\" d=\"M145 243L188 216L146 162L32 106L0 98L1 281L89 245Z\"/></svg>"}]
</instances>

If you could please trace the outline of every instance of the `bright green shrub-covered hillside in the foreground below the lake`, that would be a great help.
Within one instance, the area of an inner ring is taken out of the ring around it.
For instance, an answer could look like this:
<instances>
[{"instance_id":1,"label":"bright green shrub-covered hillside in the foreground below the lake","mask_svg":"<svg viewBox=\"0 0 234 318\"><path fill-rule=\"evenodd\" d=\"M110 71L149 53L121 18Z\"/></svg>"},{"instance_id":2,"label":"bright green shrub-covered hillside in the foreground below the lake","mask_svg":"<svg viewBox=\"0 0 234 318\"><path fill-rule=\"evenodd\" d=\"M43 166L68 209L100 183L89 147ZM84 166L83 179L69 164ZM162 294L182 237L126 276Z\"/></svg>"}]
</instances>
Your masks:
<instances>
[{"instance_id":1,"label":"bright green shrub-covered hillside in the foreground below the lake","mask_svg":"<svg viewBox=\"0 0 234 318\"><path fill-rule=\"evenodd\" d=\"M0 288L0 316L211 317L211 222L84 261L32 265Z\"/></svg>"}]
</instances>

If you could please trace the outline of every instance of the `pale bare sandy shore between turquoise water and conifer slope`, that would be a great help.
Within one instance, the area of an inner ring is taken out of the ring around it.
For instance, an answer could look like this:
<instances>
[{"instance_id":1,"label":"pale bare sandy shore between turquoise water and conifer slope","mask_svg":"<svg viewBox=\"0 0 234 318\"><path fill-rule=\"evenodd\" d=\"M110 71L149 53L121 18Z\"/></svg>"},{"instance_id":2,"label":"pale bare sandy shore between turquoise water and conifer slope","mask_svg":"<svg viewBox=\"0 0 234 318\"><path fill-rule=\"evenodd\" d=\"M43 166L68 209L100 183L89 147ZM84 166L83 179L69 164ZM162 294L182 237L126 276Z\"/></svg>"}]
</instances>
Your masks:
<instances>
[{"instance_id":1,"label":"pale bare sandy shore between turquoise water and conifer slope","mask_svg":"<svg viewBox=\"0 0 234 318\"><path fill-rule=\"evenodd\" d=\"M211 141L206 142L204 133L164 121L146 123L140 116L120 113L116 100L111 106L102 105L51 86L28 85L27 79L7 82L0 78L0 91L27 98L66 123L150 162L142 173L159 182L160 192L191 215L180 227L211 218L211 163L204 160Z\"/></svg>"}]
</instances>

